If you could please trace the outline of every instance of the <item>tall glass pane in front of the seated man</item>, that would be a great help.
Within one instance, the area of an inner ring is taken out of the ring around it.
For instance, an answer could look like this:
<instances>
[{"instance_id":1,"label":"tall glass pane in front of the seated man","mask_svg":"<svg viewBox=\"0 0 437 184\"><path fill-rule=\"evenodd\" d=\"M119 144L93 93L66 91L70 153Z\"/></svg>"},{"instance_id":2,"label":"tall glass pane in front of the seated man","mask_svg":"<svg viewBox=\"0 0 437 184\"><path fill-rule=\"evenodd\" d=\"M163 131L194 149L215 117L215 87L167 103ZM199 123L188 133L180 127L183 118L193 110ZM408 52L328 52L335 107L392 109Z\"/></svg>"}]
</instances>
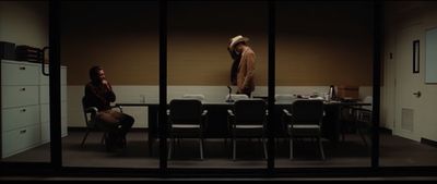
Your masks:
<instances>
[{"instance_id":1,"label":"tall glass pane in front of the seated man","mask_svg":"<svg viewBox=\"0 0 437 184\"><path fill-rule=\"evenodd\" d=\"M69 126L62 138L63 165L157 168L158 144L149 139L156 133L151 125L157 121L158 107L157 2L66 1L61 9ZM88 71L96 65L116 96L114 101L106 99L113 111L93 100L94 93L109 94L101 79L90 83ZM93 85L85 93L87 84ZM91 107L97 108L96 115Z\"/></svg>"}]
</instances>

